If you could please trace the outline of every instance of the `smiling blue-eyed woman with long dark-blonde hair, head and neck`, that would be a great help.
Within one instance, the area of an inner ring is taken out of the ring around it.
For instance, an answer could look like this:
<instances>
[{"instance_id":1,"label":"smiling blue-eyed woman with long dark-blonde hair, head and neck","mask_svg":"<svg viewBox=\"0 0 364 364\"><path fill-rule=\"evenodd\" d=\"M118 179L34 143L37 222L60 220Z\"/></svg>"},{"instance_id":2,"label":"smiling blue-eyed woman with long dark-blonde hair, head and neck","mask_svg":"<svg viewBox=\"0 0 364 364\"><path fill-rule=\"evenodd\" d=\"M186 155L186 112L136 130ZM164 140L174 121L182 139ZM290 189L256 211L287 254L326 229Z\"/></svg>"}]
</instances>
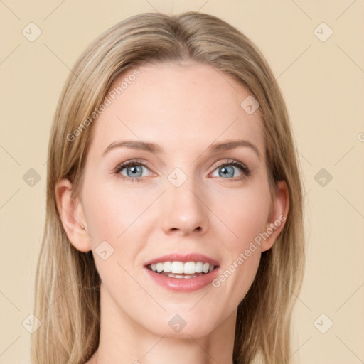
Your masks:
<instances>
[{"instance_id":1,"label":"smiling blue-eyed woman with long dark-blonde hair, head and neck","mask_svg":"<svg viewBox=\"0 0 364 364\"><path fill-rule=\"evenodd\" d=\"M77 61L48 151L33 363L289 363L302 186L272 71L207 14Z\"/></svg>"}]
</instances>

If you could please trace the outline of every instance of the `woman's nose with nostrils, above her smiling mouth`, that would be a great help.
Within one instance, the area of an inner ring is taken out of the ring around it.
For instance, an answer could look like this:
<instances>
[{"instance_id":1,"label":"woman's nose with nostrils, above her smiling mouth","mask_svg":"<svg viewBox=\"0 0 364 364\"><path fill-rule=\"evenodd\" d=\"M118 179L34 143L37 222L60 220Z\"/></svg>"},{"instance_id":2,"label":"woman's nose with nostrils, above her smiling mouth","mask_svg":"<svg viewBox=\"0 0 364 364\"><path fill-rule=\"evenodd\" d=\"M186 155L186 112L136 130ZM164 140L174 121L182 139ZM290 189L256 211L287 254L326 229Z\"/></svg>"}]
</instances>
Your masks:
<instances>
[{"instance_id":1,"label":"woman's nose with nostrils, above her smiling mouth","mask_svg":"<svg viewBox=\"0 0 364 364\"><path fill-rule=\"evenodd\" d=\"M167 235L202 235L208 230L209 210L199 191L193 178L187 178L179 187L167 184L161 206L161 225Z\"/></svg>"}]
</instances>

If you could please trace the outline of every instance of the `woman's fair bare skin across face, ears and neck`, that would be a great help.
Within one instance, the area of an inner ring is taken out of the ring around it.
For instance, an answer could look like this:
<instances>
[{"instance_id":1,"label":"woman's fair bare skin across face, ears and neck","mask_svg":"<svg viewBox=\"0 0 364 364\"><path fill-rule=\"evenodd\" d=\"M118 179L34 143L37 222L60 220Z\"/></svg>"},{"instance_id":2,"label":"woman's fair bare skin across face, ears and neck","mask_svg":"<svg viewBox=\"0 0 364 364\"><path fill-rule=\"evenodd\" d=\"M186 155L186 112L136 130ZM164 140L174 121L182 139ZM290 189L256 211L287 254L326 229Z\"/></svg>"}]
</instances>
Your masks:
<instances>
[{"instance_id":1,"label":"woman's fair bare skin across face, ears and neck","mask_svg":"<svg viewBox=\"0 0 364 364\"><path fill-rule=\"evenodd\" d=\"M100 346L87 363L230 364L237 306L255 278L260 253L272 247L284 224L218 288L169 291L154 283L144 263L198 252L225 271L259 232L287 216L287 185L279 181L271 205L259 109L250 115L240 107L250 93L230 75L197 63L138 69L141 75L92 124L80 196L72 198L68 180L57 185L68 238L77 250L92 250L102 279ZM123 147L102 156L109 144L126 139L159 144L165 153ZM207 150L235 139L255 144L261 158L246 146ZM132 159L147 164L139 181L126 168L114 173ZM229 159L245 164L249 176L231 165L234 176L221 173ZM187 176L178 188L167 178L175 168ZM235 177L241 179L231 181ZM114 253L103 260L95 248L105 240ZM186 321L179 333L168 326L176 314Z\"/></svg>"}]
</instances>

